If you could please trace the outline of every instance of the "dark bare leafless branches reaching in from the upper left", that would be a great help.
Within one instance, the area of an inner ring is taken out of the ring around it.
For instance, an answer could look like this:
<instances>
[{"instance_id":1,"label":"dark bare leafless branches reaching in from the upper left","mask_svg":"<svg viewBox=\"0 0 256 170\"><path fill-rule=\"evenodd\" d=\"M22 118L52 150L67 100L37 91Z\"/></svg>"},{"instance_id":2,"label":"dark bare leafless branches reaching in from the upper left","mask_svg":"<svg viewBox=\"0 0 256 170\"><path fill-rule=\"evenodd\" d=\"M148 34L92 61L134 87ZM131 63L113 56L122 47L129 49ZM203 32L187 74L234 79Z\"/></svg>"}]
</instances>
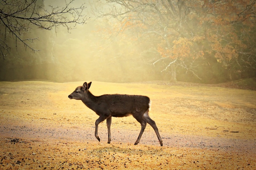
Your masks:
<instances>
[{"instance_id":1,"label":"dark bare leafless branches reaching in from the upper left","mask_svg":"<svg viewBox=\"0 0 256 170\"><path fill-rule=\"evenodd\" d=\"M20 41L25 48L38 51L31 47L38 37L24 38L32 28L51 30L63 26L69 31L87 20L83 14L86 7L74 7L74 0L65 1L63 6L44 4L43 0L0 0L0 58L4 60L10 51L10 39L14 39L16 47Z\"/></svg>"}]
</instances>

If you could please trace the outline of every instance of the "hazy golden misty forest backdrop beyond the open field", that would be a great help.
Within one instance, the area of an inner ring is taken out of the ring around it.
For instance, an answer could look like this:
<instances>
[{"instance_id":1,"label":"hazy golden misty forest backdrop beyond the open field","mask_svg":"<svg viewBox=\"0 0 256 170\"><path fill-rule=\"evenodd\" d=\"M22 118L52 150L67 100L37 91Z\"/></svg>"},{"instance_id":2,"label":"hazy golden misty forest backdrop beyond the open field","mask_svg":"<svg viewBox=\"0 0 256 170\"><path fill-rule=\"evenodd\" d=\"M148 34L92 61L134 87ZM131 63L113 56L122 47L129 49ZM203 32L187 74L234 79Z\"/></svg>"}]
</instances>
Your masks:
<instances>
[{"instance_id":1,"label":"hazy golden misty forest backdrop beyond the open field","mask_svg":"<svg viewBox=\"0 0 256 170\"><path fill-rule=\"evenodd\" d=\"M37 1L43 8L61 2ZM28 24L18 33L38 37L27 41L36 51L8 32L3 3L1 50L10 48L0 58L1 81L222 83L256 75L252 0L76 0L71 5L85 3L86 24L69 30Z\"/></svg>"}]
</instances>

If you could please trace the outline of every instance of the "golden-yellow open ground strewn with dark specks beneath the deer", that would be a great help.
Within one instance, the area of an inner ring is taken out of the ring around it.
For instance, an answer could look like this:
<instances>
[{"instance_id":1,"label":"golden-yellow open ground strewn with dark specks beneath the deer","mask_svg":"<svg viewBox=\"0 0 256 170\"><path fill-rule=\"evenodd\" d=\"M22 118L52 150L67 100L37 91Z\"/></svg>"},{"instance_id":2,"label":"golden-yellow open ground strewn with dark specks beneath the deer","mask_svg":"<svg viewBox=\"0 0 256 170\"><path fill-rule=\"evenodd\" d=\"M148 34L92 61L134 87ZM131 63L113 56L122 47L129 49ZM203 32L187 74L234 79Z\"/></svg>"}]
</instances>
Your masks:
<instances>
[{"instance_id":1,"label":"golden-yellow open ground strewn with dark specks beneath the deer","mask_svg":"<svg viewBox=\"0 0 256 170\"><path fill-rule=\"evenodd\" d=\"M151 99L147 125L106 121L67 96L83 82L0 82L0 169L256 169L256 91L203 85L93 82L94 95Z\"/></svg>"}]
</instances>

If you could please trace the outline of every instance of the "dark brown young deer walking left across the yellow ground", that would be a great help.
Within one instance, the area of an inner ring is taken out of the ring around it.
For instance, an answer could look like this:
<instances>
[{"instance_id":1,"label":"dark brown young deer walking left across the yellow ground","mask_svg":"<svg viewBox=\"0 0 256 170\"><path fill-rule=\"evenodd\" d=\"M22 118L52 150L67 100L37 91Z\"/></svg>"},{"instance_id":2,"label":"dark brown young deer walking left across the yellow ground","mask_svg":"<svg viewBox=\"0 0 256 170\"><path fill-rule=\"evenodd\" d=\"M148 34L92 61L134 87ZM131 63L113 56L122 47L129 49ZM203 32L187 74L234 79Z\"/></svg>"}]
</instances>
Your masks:
<instances>
[{"instance_id":1,"label":"dark brown young deer walking left across the yellow ground","mask_svg":"<svg viewBox=\"0 0 256 170\"><path fill-rule=\"evenodd\" d=\"M126 117L132 115L140 124L141 131L139 136L134 143L137 145L141 139L141 136L146 128L147 123L152 126L160 145L163 146L162 138L159 134L157 125L149 117L150 111L150 99L147 96L142 95L122 95L122 94L104 94L101 96L94 96L89 88L90 83L83 83L83 86L78 86L75 90L68 96L69 99L81 100L88 108L93 110L99 118L95 121L95 137L100 142L98 135L98 125L104 120L107 121L107 131L108 131L108 142L111 141L110 126L112 122L112 117Z\"/></svg>"}]
</instances>

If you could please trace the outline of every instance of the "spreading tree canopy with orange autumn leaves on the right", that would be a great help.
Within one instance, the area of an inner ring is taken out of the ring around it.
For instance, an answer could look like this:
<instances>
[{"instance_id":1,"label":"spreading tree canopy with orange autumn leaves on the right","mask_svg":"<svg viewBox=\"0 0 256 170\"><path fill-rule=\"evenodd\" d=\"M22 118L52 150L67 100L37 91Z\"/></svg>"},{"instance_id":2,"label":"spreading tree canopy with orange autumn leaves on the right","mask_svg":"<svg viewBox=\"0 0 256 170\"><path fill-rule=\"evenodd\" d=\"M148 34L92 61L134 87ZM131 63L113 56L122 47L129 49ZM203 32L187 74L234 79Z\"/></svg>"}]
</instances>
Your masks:
<instances>
[{"instance_id":1,"label":"spreading tree canopy with orange autumn leaves on the right","mask_svg":"<svg viewBox=\"0 0 256 170\"><path fill-rule=\"evenodd\" d=\"M115 20L113 33L154 35L159 58L176 80L176 69L196 73L214 58L232 74L255 73L255 0L105 0L98 17ZM109 8L104 8L108 6ZM208 58L208 59L207 59ZM170 60L171 59L171 60ZM203 63L201 63L203 64ZM255 74L254 74L255 75Z\"/></svg>"}]
</instances>

